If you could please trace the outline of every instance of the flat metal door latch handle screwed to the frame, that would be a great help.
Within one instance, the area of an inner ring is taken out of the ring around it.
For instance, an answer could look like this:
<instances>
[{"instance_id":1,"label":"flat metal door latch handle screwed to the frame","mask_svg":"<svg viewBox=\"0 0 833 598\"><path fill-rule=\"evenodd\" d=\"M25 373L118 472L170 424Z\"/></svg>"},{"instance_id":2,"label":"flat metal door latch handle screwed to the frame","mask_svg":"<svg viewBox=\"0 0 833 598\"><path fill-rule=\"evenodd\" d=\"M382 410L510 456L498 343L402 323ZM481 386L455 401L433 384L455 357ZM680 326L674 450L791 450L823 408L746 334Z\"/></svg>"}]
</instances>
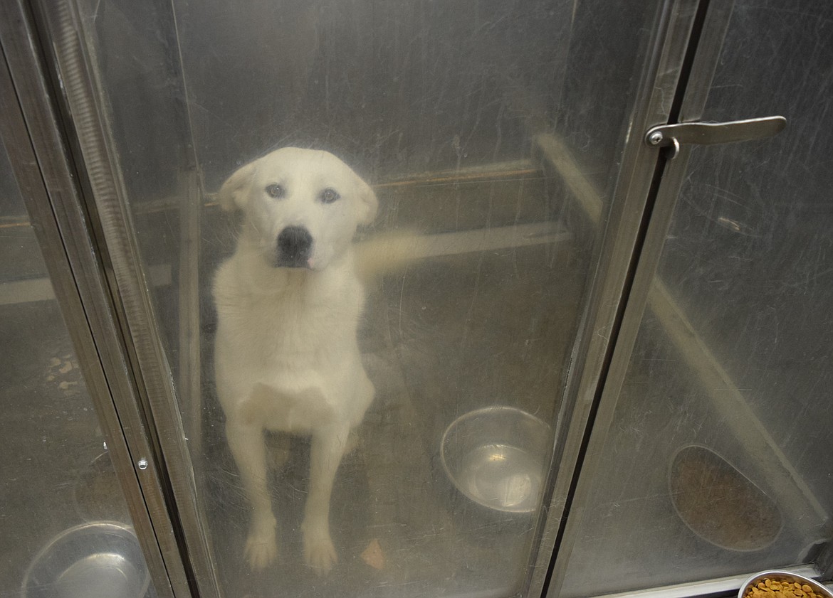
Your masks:
<instances>
[{"instance_id":1,"label":"flat metal door latch handle screwed to the frame","mask_svg":"<svg viewBox=\"0 0 833 598\"><path fill-rule=\"evenodd\" d=\"M671 147L673 160L680 153L683 143L713 146L718 143L766 139L783 131L785 126L786 118L783 116L728 122L678 122L649 129L645 134L645 142L651 147Z\"/></svg>"}]
</instances>

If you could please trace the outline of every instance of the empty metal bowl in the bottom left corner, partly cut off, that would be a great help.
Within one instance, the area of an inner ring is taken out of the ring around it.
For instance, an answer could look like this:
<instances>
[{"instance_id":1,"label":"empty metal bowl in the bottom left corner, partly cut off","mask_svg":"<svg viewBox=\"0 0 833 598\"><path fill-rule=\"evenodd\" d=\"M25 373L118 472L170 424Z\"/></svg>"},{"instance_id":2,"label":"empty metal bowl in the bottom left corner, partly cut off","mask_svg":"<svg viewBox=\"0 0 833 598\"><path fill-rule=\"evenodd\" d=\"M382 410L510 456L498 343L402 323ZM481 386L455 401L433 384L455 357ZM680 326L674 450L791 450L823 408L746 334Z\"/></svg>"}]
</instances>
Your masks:
<instances>
[{"instance_id":1,"label":"empty metal bowl in the bottom left corner, partly cut off","mask_svg":"<svg viewBox=\"0 0 833 598\"><path fill-rule=\"evenodd\" d=\"M150 573L132 529L97 521L55 536L23 577L23 598L142 598Z\"/></svg>"}]
</instances>

